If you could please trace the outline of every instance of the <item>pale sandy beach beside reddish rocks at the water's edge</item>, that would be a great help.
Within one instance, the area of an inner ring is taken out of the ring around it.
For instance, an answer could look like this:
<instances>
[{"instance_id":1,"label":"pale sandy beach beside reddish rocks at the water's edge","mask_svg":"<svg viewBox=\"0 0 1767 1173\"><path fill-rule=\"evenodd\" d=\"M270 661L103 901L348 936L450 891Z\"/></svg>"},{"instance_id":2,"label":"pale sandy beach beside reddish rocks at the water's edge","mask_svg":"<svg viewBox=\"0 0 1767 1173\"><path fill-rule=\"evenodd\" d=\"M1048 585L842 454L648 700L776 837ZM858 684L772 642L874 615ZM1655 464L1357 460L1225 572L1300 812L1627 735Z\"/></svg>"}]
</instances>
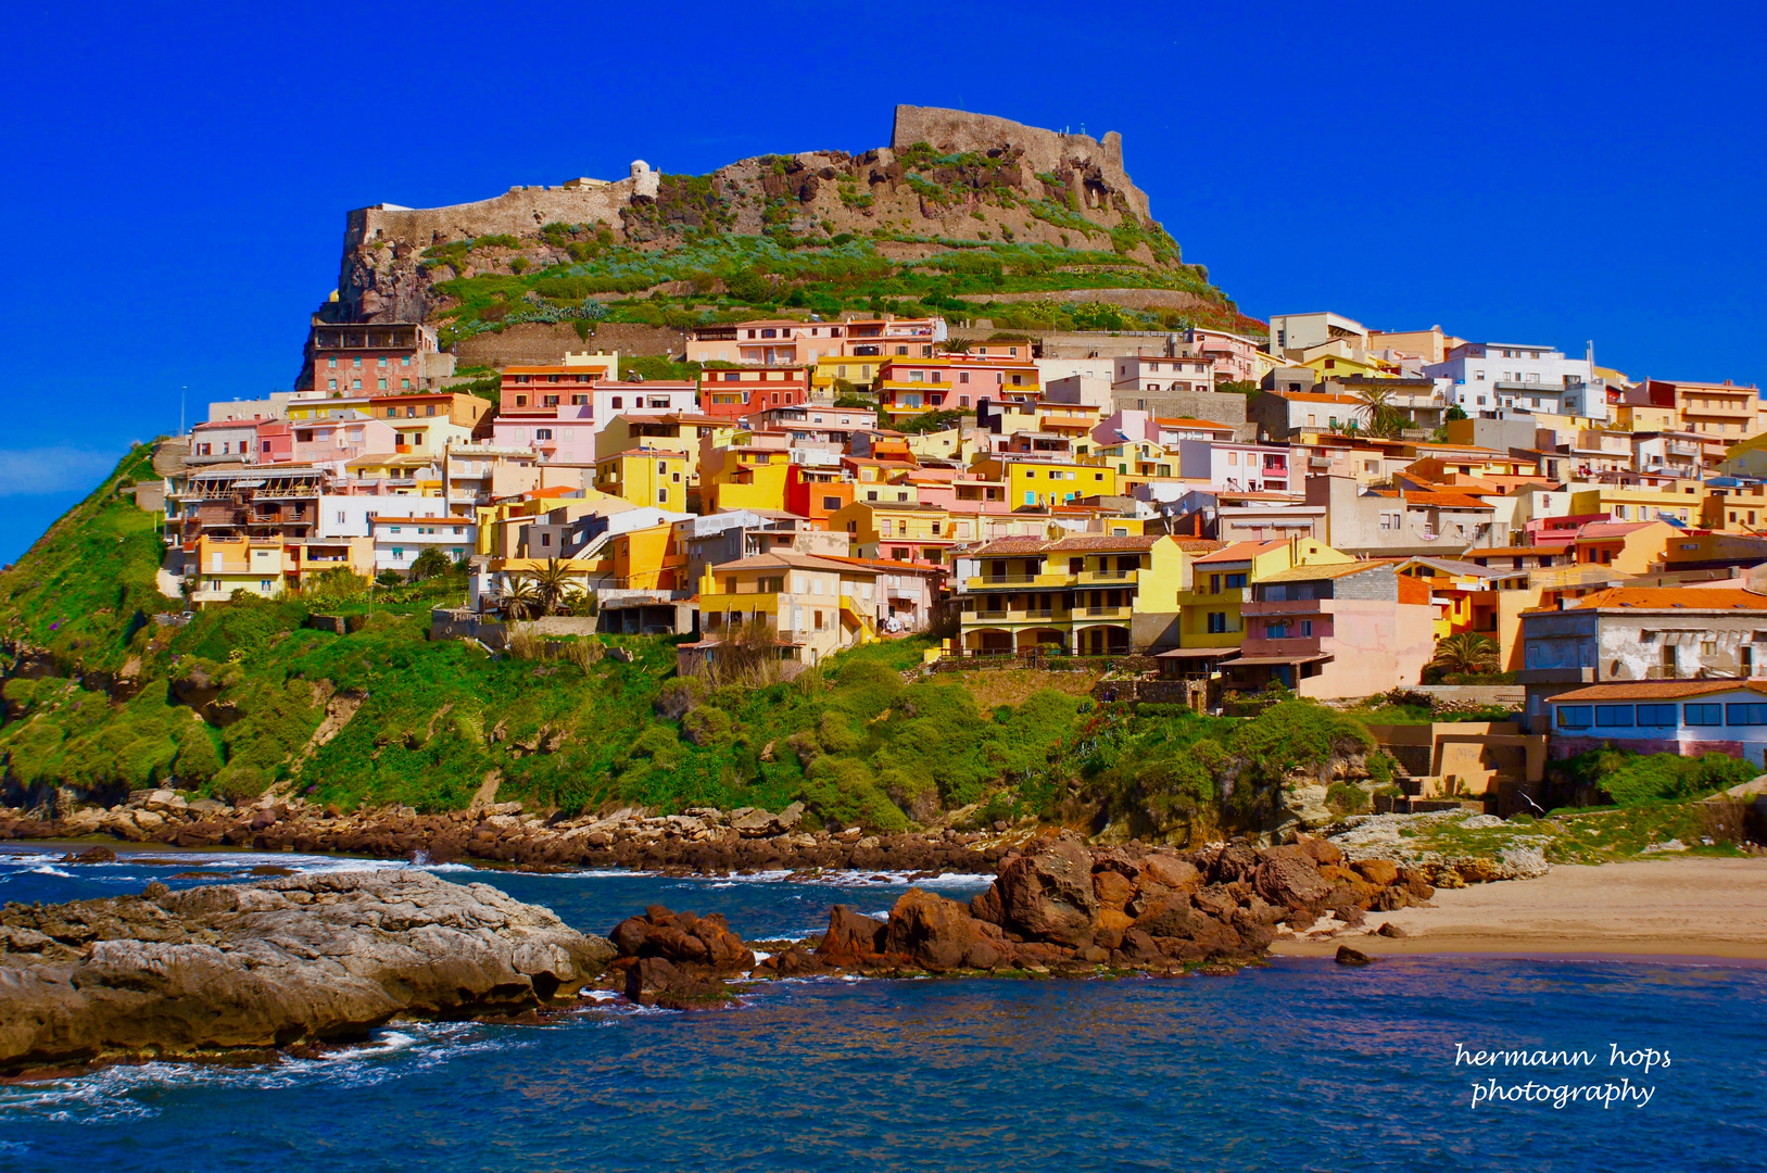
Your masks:
<instances>
[{"instance_id":1,"label":"pale sandy beach beside reddish rocks at the water's edge","mask_svg":"<svg viewBox=\"0 0 1767 1173\"><path fill-rule=\"evenodd\" d=\"M1283 936L1272 954L1634 954L1767 961L1767 859L1560 864L1537 880L1437 890L1435 908L1369 913L1336 936ZM1407 936L1368 935L1384 922ZM1323 926L1322 926L1323 927Z\"/></svg>"}]
</instances>

